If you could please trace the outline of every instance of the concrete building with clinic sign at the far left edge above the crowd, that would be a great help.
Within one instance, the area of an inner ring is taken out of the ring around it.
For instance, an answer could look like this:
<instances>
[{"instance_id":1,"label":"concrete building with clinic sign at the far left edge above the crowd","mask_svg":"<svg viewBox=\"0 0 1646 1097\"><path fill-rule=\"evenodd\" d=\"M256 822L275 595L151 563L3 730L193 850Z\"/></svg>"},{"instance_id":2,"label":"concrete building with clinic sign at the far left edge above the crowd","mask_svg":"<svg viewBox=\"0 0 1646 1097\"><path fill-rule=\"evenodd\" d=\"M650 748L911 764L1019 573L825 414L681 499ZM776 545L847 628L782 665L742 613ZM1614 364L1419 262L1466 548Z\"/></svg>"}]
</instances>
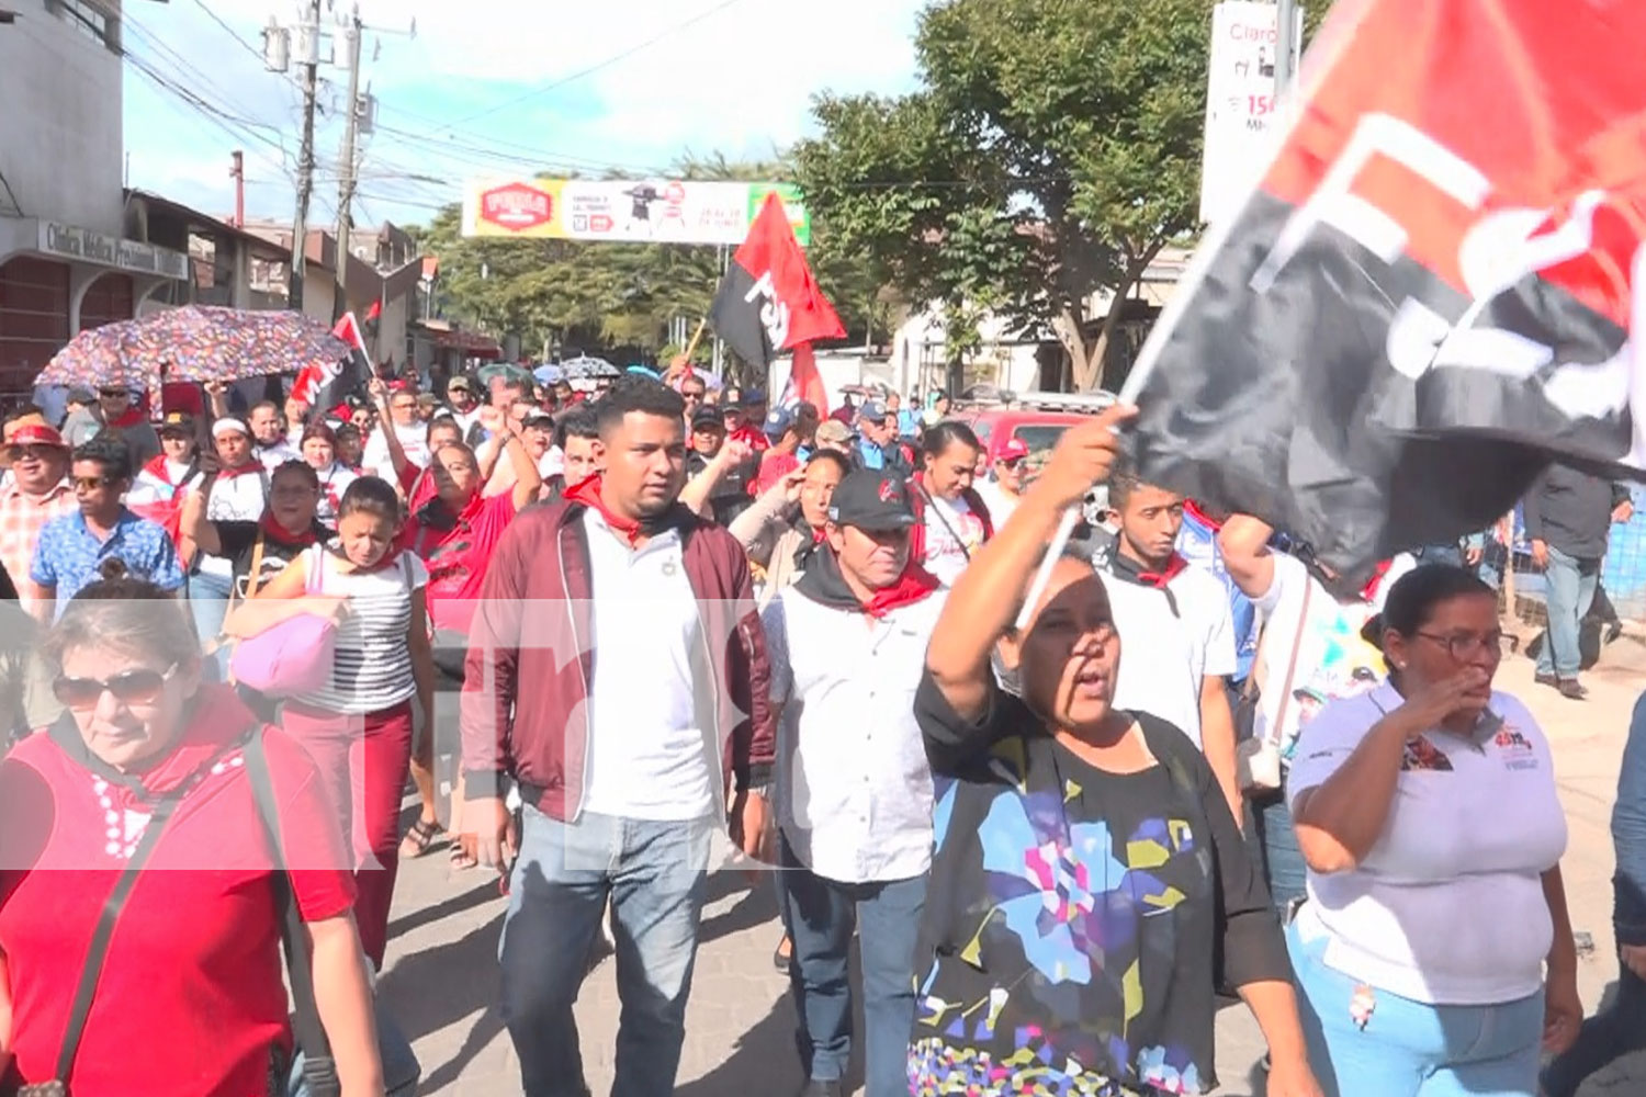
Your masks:
<instances>
[{"instance_id":1,"label":"concrete building with clinic sign at the far left edge above the crowd","mask_svg":"<svg viewBox=\"0 0 1646 1097\"><path fill-rule=\"evenodd\" d=\"M178 299L189 260L123 234L120 0L0 8L0 395L15 395L81 329Z\"/></svg>"}]
</instances>

